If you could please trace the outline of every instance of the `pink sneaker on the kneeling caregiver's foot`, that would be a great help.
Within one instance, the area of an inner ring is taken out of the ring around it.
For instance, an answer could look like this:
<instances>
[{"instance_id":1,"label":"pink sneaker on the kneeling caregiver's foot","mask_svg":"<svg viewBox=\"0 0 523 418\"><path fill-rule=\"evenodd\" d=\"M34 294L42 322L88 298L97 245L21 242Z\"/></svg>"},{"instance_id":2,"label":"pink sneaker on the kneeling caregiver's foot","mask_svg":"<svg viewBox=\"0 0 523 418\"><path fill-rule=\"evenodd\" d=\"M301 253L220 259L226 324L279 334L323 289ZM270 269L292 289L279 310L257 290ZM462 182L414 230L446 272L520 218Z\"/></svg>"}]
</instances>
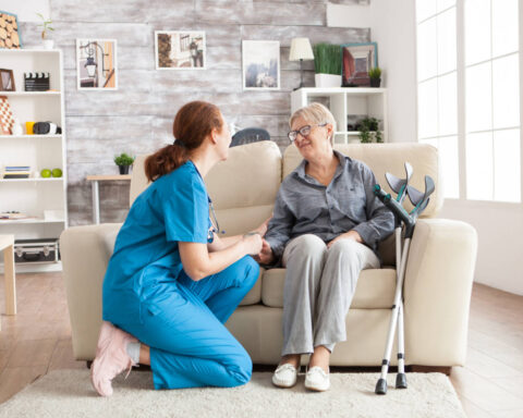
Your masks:
<instances>
[{"instance_id":1,"label":"pink sneaker on the kneeling caregiver's foot","mask_svg":"<svg viewBox=\"0 0 523 418\"><path fill-rule=\"evenodd\" d=\"M129 374L136 366L127 354L127 343L137 343L137 340L112 323L102 322L96 358L90 366L90 381L101 396L111 396L111 380L126 369Z\"/></svg>"}]
</instances>

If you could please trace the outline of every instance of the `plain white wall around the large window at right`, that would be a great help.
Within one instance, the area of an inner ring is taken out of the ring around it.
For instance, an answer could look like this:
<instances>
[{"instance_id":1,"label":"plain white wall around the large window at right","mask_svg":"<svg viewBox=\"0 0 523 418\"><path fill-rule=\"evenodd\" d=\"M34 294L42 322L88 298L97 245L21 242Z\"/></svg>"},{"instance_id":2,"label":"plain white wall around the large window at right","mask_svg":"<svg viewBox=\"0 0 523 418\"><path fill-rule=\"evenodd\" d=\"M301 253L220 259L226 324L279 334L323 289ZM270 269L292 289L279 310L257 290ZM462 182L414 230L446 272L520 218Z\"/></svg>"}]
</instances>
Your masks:
<instances>
[{"instance_id":1,"label":"plain white wall around the large window at right","mask_svg":"<svg viewBox=\"0 0 523 418\"><path fill-rule=\"evenodd\" d=\"M372 0L369 5L329 4L327 9L329 25L370 27L372 40L378 44L385 87L390 91L391 142L417 140L414 4L412 0ZM520 45L523 46L523 8L520 8ZM523 100L521 104L523 112ZM440 217L462 220L476 229L479 241L476 282L523 295L522 205L447 200Z\"/></svg>"}]
</instances>

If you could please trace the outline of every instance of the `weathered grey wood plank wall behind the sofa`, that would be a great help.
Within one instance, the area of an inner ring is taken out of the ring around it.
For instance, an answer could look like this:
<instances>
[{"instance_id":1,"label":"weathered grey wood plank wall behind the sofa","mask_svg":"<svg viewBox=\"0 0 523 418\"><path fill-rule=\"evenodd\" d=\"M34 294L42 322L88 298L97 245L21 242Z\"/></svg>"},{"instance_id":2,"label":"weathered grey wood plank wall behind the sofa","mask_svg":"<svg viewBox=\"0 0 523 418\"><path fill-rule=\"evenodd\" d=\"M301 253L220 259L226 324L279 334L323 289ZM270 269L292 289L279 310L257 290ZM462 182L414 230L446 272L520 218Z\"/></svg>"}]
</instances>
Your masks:
<instances>
[{"instance_id":1,"label":"weathered grey wood plank wall behind the sofa","mask_svg":"<svg viewBox=\"0 0 523 418\"><path fill-rule=\"evenodd\" d=\"M356 3L339 0L337 3ZM89 174L115 174L115 153L149 153L172 142L172 120L190 100L218 104L229 122L265 127L285 147L290 93L300 66L289 61L291 39L369 41L370 29L326 26L327 1L316 0L50 0L56 47L63 50L70 225L92 222ZM25 45L38 45L35 24L22 26ZM204 71L156 71L155 30L205 30ZM76 89L76 38L118 40L117 91ZM280 41L281 90L242 90L242 40ZM314 66L304 64L306 86ZM129 186L100 187L101 221L122 222Z\"/></svg>"}]
</instances>

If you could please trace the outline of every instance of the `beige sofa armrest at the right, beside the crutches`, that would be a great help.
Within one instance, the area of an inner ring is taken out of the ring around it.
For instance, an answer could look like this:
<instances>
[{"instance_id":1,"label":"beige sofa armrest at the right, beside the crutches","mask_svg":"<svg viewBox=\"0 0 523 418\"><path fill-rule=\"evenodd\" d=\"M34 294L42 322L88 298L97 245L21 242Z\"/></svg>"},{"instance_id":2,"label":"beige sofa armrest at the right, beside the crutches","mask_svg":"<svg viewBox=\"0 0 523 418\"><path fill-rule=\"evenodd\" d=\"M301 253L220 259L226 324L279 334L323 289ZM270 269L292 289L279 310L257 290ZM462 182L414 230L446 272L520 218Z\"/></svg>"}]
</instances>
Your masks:
<instances>
[{"instance_id":1,"label":"beige sofa armrest at the right, beside the crutches","mask_svg":"<svg viewBox=\"0 0 523 418\"><path fill-rule=\"evenodd\" d=\"M428 357L429 366L464 365L476 253L470 224L417 221L404 281L408 364L426 364Z\"/></svg>"}]
</instances>

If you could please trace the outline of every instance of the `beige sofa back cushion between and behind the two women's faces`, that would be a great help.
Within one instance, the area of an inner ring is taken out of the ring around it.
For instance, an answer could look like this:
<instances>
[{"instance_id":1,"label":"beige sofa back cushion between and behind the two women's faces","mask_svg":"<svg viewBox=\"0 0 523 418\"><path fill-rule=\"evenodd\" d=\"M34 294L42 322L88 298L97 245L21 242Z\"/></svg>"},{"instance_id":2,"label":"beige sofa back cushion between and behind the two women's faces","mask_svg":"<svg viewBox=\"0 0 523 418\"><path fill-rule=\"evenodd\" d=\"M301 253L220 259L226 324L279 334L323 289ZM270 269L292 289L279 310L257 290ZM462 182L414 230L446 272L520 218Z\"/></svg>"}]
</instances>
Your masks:
<instances>
[{"instance_id":1,"label":"beige sofa back cushion between and behind the two women's faces","mask_svg":"<svg viewBox=\"0 0 523 418\"><path fill-rule=\"evenodd\" d=\"M130 201L147 187L144 172L147 156L133 165ZM204 179L224 235L245 233L272 213L281 183L281 152L271 140L229 149L229 158L217 163Z\"/></svg>"}]
</instances>

